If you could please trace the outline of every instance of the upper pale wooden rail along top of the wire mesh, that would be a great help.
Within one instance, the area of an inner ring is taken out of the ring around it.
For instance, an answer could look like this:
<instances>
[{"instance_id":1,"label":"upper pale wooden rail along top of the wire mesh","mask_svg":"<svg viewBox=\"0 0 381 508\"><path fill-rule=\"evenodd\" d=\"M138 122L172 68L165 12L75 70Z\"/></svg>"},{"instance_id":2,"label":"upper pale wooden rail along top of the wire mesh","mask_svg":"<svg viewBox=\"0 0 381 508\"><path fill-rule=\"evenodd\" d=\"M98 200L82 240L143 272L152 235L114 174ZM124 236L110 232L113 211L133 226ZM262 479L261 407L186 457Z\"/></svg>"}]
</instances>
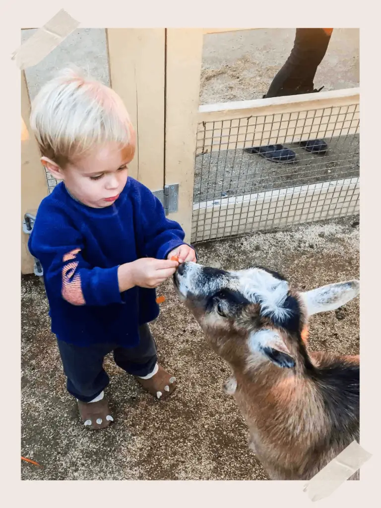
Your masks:
<instances>
[{"instance_id":1,"label":"upper pale wooden rail along top of the wire mesh","mask_svg":"<svg viewBox=\"0 0 381 508\"><path fill-rule=\"evenodd\" d=\"M357 134L358 88L199 107L197 154Z\"/></svg>"}]
</instances>

